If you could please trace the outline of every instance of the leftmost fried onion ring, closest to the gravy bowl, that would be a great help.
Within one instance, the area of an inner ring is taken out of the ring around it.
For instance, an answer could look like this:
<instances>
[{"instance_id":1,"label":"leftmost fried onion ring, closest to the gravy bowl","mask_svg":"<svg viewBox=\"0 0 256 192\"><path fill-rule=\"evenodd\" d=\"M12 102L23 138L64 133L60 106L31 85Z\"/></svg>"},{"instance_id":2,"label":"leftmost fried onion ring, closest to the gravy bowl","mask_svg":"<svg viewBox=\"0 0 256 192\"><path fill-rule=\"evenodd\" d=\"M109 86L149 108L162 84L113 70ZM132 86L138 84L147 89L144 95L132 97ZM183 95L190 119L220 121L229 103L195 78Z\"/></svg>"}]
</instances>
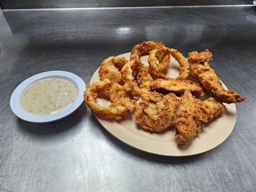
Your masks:
<instances>
[{"instance_id":1,"label":"leftmost fried onion ring, closest to the gravy bowl","mask_svg":"<svg viewBox=\"0 0 256 192\"><path fill-rule=\"evenodd\" d=\"M96 103L96 99L100 96L110 97L112 103L108 108ZM88 107L99 117L114 120L122 120L122 116L129 110L133 111L136 102L129 92L123 89L122 85L107 79L93 84L87 84L84 100Z\"/></svg>"}]
</instances>

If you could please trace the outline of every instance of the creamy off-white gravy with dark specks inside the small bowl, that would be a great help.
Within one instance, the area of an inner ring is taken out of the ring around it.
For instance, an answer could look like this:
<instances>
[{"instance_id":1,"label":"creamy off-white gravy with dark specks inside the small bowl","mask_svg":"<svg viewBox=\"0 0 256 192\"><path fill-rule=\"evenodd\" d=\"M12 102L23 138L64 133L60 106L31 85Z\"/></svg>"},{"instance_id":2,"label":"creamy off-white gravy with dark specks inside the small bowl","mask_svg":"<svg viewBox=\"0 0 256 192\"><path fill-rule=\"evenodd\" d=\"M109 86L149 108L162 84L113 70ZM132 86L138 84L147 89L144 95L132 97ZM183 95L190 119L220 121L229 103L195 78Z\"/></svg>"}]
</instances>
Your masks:
<instances>
[{"instance_id":1,"label":"creamy off-white gravy with dark specks inside the small bowl","mask_svg":"<svg viewBox=\"0 0 256 192\"><path fill-rule=\"evenodd\" d=\"M34 115L50 115L69 107L78 95L76 86L65 79L49 78L29 85L21 96L21 105Z\"/></svg>"}]
</instances>

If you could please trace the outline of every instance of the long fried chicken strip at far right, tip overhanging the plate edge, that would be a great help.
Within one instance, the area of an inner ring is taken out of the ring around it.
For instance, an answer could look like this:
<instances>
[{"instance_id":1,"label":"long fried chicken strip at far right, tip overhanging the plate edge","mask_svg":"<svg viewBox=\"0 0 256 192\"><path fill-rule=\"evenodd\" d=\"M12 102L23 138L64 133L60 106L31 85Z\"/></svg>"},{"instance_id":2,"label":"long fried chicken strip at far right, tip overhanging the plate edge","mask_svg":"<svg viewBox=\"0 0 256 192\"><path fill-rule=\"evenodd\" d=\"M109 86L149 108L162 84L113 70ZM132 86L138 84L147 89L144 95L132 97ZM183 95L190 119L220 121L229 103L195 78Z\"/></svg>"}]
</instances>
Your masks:
<instances>
[{"instance_id":1,"label":"long fried chicken strip at far right, tip overhanging the plate edge","mask_svg":"<svg viewBox=\"0 0 256 192\"><path fill-rule=\"evenodd\" d=\"M197 51L189 53L188 63L191 74L199 80L205 90L218 98L220 102L238 103L244 101L244 96L239 95L232 89L226 90L221 86L215 70L210 67L210 60L212 60L212 53L208 49L201 53Z\"/></svg>"}]
</instances>

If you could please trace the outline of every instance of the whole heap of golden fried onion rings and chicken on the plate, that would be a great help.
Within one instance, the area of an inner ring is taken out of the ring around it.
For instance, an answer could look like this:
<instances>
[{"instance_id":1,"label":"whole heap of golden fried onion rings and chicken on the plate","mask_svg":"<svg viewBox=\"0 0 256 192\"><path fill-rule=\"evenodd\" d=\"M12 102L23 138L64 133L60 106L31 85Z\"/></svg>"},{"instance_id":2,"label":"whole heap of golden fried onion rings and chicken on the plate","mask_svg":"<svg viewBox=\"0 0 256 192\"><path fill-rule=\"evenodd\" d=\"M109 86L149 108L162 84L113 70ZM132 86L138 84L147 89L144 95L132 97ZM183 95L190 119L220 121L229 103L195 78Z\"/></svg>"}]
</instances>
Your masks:
<instances>
[{"instance_id":1,"label":"whole heap of golden fried onion rings and chicken on the plate","mask_svg":"<svg viewBox=\"0 0 256 192\"><path fill-rule=\"evenodd\" d=\"M149 67L140 59L147 54ZM163 73L169 67L170 55L180 65L180 75L175 79ZM215 70L210 67L212 53L207 49L201 53L189 53L188 64L178 50L167 48L162 43L145 41L134 46L130 60L109 57L101 63L98 72L102 81L86 85L84 100L100 118L122 120L127 112L135 112L136 122L144 130L162 132L174 125L177 144L181 145L192 142L207 122L226 111L220 102L245 100L233 90L225 90L221 86ZM188 80L190 71L202 87ZM151 75L161 79L153 81ZM202 101L192 95L205 95L203 88L215 98ZM108 107L98 105L98 97L109 98L111 104Z\"/></svg>"}]
</instances>

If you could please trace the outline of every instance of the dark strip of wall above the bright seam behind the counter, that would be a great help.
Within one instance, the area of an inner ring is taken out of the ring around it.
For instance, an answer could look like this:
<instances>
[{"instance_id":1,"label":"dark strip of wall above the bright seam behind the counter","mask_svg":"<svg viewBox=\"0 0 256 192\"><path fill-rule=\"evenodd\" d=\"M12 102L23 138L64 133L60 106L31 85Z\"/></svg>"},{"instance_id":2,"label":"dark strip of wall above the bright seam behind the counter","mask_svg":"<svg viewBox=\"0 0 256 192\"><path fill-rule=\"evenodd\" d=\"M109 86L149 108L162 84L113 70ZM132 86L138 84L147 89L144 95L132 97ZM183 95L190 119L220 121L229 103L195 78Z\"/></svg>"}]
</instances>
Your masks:
<instances>
[{"instance_id":1,"label":"dark strip of wall above the bright seam behind the counter","mask_svg":"<svg viewBox=\"0 0 256 192\"><path fill-rule=\"evenodd\" d=\"M253 0L0 0L1 9L241 5Z\"/></svg>"}]
</instances>

